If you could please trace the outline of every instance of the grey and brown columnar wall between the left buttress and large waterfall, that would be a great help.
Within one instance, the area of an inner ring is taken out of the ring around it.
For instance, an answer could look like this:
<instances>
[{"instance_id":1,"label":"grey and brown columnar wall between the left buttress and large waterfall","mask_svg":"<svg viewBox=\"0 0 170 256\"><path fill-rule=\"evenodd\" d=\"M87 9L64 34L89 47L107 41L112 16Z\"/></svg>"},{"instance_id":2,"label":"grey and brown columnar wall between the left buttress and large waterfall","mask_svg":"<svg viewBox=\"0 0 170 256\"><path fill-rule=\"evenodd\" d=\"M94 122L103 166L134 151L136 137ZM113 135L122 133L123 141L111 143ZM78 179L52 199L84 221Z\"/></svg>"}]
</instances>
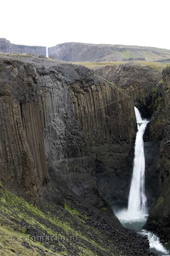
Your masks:
<instances>
[{"instance_id":1,"label":"grey and brown columnar wall between the left buttress and large waterfall","mask_svg":"<svg viewBox=\"0 0 170 256\"><path fill-rule=\"evenodd\" d=\"M98 208L104 207L103 197L124 205L136 134L132 99L82 66L58 64L37 72L53 185L68 184Z\"/></svg>"}]
</instances>

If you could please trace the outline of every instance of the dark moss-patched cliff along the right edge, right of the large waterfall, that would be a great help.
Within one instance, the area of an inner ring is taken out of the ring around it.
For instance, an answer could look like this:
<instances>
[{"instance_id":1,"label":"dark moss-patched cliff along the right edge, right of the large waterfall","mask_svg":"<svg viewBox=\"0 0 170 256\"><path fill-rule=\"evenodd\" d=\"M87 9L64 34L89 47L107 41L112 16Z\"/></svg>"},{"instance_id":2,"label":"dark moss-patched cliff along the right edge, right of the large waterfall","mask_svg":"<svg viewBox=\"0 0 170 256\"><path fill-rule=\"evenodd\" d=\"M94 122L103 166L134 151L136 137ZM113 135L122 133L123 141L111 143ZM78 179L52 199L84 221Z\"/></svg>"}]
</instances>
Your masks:
<instances>
[{"instance_id":1,"label":"dark moss-patched cliff along the right edge, right of the large waterfall","mask_svg":"<svg viewBox=\"0 0 170 256\"><path fill-rule=\"evenodd\" d=\"M170 239L170 68L163 70L163 83L158 85L157 110L146 130L147 141L160 141L159 190L155 207L150 212L146 228L160 234L163 240Z\"/></svg>"}]
</instances>

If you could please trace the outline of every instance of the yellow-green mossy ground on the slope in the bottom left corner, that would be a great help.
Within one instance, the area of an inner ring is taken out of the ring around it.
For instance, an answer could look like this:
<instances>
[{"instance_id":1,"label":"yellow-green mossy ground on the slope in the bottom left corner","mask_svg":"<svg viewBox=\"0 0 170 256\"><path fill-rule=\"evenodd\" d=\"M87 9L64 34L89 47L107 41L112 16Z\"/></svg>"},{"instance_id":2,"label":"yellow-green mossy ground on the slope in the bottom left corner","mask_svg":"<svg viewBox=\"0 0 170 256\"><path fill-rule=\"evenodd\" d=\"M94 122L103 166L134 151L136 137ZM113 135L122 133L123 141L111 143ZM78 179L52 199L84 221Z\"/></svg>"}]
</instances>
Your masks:
<instances>
[{"instance_id":1,"label":"yellow-green mossy ground on the slope in the bottom left corner","mask_svg":"<svg viewBox=\"0 0 170 256\"><path fill-rule=\"evenodd\" d=\"M70 255L76 247L76 250L79 248L79 255L95 256L93 251L100 251L104 255L115 248L113 241L108 241L111 245L111 249L108 249L99 230L87 223L89 217L72 209L69 202L65 203L65 209L48 203L48 214L45 214L23 198L0 189L0 205L0 234L3 234L0 235L0 255ZM11 234L17 238L15 241L10 239ZM55 235L59 240L46 240ZM74 242L76 236L78 241ZM61 241L61 237L66 240ZM73 242L71 237L74 237Z\"/></svg>"}]
</instances>

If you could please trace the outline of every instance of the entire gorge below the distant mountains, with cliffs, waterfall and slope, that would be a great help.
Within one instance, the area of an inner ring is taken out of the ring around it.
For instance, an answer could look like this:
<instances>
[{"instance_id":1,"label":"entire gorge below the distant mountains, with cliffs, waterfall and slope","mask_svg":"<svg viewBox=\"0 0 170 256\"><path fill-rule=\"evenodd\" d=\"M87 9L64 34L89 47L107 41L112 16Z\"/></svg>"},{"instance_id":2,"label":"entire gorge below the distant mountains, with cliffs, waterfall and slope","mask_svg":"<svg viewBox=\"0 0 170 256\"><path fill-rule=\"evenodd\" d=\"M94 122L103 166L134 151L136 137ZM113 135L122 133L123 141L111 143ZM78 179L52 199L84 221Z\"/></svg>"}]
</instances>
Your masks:
<instances>
[{"instance_id":1,"label":"entire gorge below the distant mountains, with cliffs, waterfall and slope","mask_svg":"<svg viewBox=\"0 0 170 256\"><path fill-rule=\"evenodd\" d=\"M168 255L169 66L116 62L88 69L49 57L46 47L45 57L17 54L19 48L13 54L6 45L0 54L2 255ZM56 232L79 239L7 240L10 233Z\"/></svg>"}]
</instances>

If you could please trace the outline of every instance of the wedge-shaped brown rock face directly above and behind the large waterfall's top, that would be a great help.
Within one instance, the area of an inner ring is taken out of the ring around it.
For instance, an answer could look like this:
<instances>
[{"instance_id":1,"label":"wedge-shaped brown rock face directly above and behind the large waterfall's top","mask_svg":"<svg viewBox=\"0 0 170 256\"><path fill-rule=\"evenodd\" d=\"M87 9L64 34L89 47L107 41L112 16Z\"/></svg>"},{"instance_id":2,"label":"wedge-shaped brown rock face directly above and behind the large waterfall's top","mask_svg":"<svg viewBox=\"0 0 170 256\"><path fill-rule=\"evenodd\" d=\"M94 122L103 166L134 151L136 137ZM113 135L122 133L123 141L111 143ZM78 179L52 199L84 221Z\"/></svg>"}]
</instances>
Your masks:
<instances>
[{"instance_id":1,"label":"wedge-shaped brown rock face directly above and behind the large waterfall's top","mask_svg":"<svg viewBox=\"0 0 170 256\"><path fill-rule=\"evenodd\" d=\"M107 65L93 70L119 88L125 89L142 116L151 117L153 109L148 107L151 105L153 88L162 78L162 71L134 63Z\"/></svg>"}]
</instances>

